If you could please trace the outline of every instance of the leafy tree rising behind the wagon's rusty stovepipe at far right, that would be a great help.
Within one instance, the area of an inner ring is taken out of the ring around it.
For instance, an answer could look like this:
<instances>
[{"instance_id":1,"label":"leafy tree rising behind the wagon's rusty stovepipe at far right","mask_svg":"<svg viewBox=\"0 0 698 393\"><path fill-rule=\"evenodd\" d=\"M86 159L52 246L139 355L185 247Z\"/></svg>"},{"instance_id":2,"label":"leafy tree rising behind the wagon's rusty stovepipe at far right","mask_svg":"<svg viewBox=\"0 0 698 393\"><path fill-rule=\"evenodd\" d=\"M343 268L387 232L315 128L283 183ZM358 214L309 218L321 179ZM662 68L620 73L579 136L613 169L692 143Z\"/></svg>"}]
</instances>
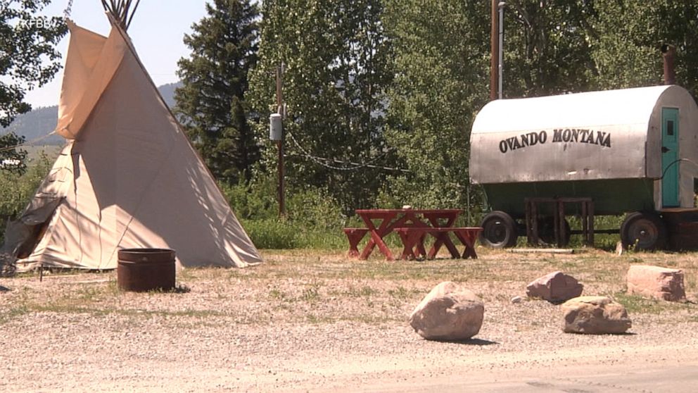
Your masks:
<instances>
[{"instance_id":1,"label":"leafy tree rising behind the wagon's rusty stovepipe at far right","mask_svg":"<svg viewBox=\"0 0 698 393\"><path fill-rule=\"evenodd\" d=\"M676 46L676 80L698 96L698 3L671 0L594 2L592 58L598 88L662 83L661 44Z\"/></svg>"}]
</instances>

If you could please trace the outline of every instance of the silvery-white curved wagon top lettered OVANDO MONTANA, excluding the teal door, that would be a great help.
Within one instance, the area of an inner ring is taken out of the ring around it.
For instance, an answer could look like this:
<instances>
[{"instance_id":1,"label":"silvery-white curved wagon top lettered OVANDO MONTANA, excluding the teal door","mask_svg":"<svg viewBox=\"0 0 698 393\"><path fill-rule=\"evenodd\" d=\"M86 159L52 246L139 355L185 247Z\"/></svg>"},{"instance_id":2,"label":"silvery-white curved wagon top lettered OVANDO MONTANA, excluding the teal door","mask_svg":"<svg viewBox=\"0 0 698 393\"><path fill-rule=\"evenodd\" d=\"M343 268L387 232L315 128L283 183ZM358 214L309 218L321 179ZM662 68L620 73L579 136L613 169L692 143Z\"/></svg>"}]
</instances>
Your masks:
<instances>
[{"instance_id":1,"label":"silvery-white curved wagon top lettered OVANDO MONTANA, excluding the teal door","mask_svg":"<svg viewBox=\"0 0 698 393\"><path fill-rule=\"evenodd\" d=\"M471 180L658 179L662 108L679 109L680 157L698 159L698 106L683 87L490 101L470 135Z\"/></svg>"}]
</instances>

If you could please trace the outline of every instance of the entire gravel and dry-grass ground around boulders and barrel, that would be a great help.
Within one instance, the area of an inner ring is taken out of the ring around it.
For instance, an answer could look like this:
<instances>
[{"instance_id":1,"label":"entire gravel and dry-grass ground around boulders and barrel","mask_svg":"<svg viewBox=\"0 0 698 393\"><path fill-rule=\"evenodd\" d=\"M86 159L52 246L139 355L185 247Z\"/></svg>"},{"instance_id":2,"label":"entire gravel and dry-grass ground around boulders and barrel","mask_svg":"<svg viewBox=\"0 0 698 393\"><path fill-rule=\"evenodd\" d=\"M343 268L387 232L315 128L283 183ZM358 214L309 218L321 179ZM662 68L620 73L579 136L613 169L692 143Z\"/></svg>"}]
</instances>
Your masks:
<instances>
[{"instance_id":1,"label":"entire gravel and dry-grass ground around boulders and barrel","mask_svg":"<svg viewBox=\"0 0 698 393\"><path fill-rule=\"evenodd\" d=\"M0 278L0 391L494 392L504 389L487 384L532 376L569 384L575 373L698 366L698 254L478 248L476 261L395 262L263 254L253 268L179 271L174 293L120 292L115 272ZM626 295L633 263L683 268L690 302ZM630 334L565 334L559 306L511 303L554 270L577 277L584 294L626 304ZM406 322L445 280L465 282L485 302L483 328L469 342L429 342ZM558 391L610 392L614 385L603 381ZM657 384L618 391L664 391Z\"/></svg>"}]
</instances>

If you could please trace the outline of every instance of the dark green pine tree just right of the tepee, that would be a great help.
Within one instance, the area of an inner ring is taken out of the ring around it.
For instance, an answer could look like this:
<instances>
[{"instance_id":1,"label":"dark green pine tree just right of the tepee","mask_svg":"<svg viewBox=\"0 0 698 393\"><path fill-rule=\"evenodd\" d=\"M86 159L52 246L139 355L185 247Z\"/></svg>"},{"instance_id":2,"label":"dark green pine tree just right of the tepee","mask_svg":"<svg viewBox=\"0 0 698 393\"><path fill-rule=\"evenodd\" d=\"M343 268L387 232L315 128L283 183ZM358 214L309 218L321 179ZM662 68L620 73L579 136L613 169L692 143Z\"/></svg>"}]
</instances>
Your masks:
<instances>
[{"instance_id":1,"label":"dark green pine tree just right of the tepee","mask_svg":"<svg viewBox=\"0 0 698 393\"><path fill-rule=\"evenodd\" d=\"M259 147L248 123L248 70L257 61L259 11L250 0L214 0L208 13L184 37L191 49L179 61L183 86L177 115L218 180L250 180Z\"/></svg>"}]
</instances>

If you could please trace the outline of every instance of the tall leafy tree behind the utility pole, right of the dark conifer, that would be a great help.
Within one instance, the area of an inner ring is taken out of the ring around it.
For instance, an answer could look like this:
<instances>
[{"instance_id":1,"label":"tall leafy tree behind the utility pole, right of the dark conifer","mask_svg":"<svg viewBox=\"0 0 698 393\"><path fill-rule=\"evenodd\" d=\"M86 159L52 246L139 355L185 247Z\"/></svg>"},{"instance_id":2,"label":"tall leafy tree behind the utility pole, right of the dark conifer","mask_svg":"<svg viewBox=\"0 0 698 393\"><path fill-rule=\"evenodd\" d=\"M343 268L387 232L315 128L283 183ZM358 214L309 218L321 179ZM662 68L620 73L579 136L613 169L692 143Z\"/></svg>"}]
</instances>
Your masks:
<instances>
[{"instance_id":1,"label":"tall leafy tree behind the utility pole, right of the dark conifer","mask_svg":"<svg viewBox=\"0 0 698 393\"><path fill-rule=\"evenodd\" d=\"M393 77L383 2L262 4L260 64L251 82L260 135L267 135L266 119L276 112L274 70L283 62L290 188L326 188L345 211L373 206L386 170L372 166L391 163L383 137ZM273 170L276 149L267 153Z\"/></svg>"}]
</instances>

